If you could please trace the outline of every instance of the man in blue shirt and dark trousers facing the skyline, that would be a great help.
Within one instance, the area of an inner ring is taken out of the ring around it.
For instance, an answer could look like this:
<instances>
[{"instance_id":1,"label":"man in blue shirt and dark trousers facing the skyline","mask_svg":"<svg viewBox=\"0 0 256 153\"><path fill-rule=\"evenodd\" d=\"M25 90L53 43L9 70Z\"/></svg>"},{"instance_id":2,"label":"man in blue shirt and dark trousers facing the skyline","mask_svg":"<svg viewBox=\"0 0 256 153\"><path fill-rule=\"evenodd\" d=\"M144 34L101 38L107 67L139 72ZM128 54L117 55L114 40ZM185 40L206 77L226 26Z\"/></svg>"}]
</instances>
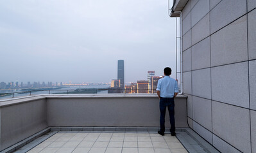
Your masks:
<instances>
[{"instance_id":1,"label":"man in blue shirt and dark trousers facing the skyline","mask_svg":"<svg viewBox=\"0 0 256 153\"><path fill-rule=\"evenodd\" d=\"M169 111L170 123L171 123L171 135L175 136L175 101L174 98L178 94L178 84L175 79L171 78L171 68L164 68L164 78L158 80L157 84L157 96L160 99L160 131L158 133L164 136L165 131L165 117L166 107Z\"/></svg>"}]
</instances>

